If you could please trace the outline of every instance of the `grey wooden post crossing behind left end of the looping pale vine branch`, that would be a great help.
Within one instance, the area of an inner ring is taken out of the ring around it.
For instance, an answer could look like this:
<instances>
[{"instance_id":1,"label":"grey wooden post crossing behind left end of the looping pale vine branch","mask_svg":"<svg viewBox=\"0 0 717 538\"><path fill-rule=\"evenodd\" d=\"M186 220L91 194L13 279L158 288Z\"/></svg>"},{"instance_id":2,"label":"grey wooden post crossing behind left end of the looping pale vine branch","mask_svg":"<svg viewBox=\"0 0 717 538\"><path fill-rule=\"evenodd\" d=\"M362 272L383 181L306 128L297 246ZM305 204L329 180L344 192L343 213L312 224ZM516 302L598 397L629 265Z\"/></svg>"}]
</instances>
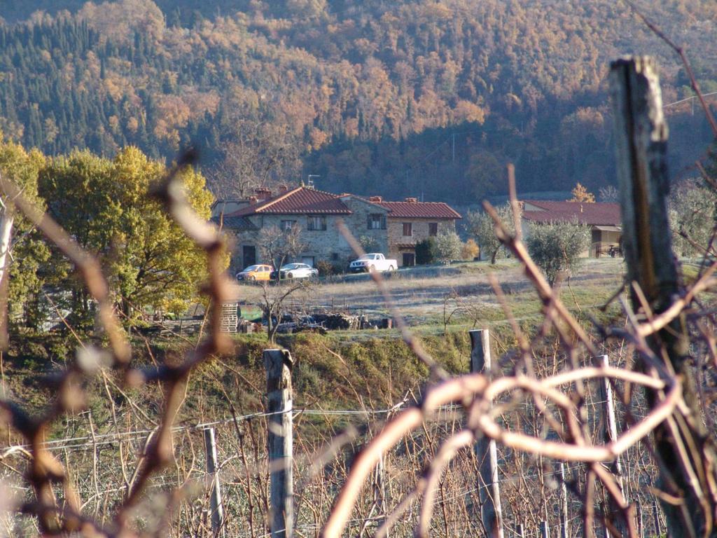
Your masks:
<instances>
[{"instance_id":1,"label":"grey wooden post crossing behind left end of the looping pale vine branch","mask_svg":"<svg viewBox=\"0 0 717 538\"><path fill-rule=\"evenodd\" d=\"M475 329L470 334L470 371L483 372L490 377L490 333L488 329ZM495 441L485 436L475 443L478 458L478 492L481 519L490 537L503 538L503 511L500 507L498 483L498 449Z\"/></svg>"}]
</instances>

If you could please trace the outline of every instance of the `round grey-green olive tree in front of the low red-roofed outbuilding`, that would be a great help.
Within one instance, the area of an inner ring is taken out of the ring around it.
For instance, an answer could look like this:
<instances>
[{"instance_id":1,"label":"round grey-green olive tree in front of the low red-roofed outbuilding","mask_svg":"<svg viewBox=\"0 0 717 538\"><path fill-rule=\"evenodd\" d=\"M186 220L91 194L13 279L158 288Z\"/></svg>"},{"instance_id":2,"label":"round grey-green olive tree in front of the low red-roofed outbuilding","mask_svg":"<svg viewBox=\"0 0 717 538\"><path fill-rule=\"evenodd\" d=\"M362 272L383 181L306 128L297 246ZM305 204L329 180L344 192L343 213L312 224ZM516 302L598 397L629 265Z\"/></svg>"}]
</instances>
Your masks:
<instances>
[{"instance_id":1,"label":"round grey-green olive tree in front of the low red-roofed outbuilding","mask_svg":"<svg viewBox=\"0 0 717 538\"><path fill-rule=\"evenodd\" d=\"M590 230L576 222L531 224L526 246L553 285L559 275L570 275L579 266L581 254L590 246Z\"/></svg>"}]
</instances>

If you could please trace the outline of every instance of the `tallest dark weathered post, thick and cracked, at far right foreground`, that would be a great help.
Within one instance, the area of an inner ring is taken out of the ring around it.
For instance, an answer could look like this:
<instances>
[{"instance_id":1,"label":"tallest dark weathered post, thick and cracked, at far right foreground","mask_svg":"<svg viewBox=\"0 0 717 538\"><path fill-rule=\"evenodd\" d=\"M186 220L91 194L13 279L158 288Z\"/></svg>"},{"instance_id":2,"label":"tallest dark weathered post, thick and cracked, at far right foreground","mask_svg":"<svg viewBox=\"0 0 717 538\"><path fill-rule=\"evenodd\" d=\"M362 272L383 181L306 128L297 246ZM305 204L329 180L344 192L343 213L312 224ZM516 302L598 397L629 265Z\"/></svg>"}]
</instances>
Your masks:
<instances>
[{"instance_id":1,"label":"tallest dark weathered post, thick and cracked, at far right foreground","mask_svg":"<svg viewBox=\"0 0 717 538\"><path fill-rule=\"evenodd\" d=\"M622 209L622 242L627 263L632 306L644 311L642 295L652 313L667 310L678 296L678 271L670 241L667 195L668 128L663 116L660 82L655 61L650 57L629 57L612 62L610 91L614 110L617 145L617 177ZM699 417L697 392L688 357L689 337L685 315L676 316L660 331L647 336L655 357L665 360L665 372L673 371L682 384L684 406L673 415L679 427L667 422L655 428L652 437L660 466L657 487L682 499L663 503L670 537L704 535L717 502L706 494L717 481L717 457L706 443L706 431ZM643 369L650 366L643 364ZM650 409L660 395L647 390ZM673 435L678 438L673 440ZM680 450L680 447L692 447ZM706 514L709 512L709 514ZM708 534L717 537L717 530Z\"/></svg>"}]
</instances>

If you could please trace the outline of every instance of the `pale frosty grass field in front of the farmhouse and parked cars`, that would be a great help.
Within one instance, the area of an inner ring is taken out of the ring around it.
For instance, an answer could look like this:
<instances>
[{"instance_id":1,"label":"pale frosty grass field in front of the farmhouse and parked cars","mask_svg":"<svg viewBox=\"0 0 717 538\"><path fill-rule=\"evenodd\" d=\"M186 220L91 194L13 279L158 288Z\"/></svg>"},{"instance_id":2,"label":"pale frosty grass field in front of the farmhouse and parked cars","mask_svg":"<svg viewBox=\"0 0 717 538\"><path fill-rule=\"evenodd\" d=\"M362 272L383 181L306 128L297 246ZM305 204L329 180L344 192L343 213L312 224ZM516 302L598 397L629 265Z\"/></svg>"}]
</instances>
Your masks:
<instances>
[{"instance_id":1,"label":"pale frosty grass field in front of the farmhouse and parked cars","mask_svg":"<svg viewBox=\"0 0 717 538\"><path fill-rule=\"evenodd\" d=\"M503 309L490 284L489 274L498 279L518 321L536 316L540 303L521 267L513 260L471 262L450 268L400 270L385 278L402 316L410 326L425 331L442 331L445 319L450 326L472 326L481 322L505 321ZM622 283L622 260L587 259L579 271L561 286L561 296L569 308L591 311L602 306ZM239 301L259 305L262 288L241 285ZM369 317L388 316L383 296L370 278L345 278L340 282L318 280L310 288L288 299L295 309L310 311L328 308L366 313Z\"/></svg>"}]
</instances>

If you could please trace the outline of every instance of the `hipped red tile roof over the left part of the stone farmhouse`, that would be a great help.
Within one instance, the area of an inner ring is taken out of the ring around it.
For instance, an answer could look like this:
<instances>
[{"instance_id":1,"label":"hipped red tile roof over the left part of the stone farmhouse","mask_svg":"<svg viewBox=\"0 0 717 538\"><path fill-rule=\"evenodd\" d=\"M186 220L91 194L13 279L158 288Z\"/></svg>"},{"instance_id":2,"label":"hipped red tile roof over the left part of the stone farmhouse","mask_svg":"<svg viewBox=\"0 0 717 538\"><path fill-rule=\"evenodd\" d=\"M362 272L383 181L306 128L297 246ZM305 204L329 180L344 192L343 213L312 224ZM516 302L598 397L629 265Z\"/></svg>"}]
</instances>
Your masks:
<instances>
[{"instance_id":1,"label":"hipped red tile roof over the left part of the stone farmhouse","mask_svg":"<svg viewBox=\"0 0 717 538\"><path fill-rule=\"evenodd\" d=\"M283 194L242 207L227 217L245 217L250 214L351 214L341 198L331 192L308 187L296 187Z\"/></svg>"}]
</instances>

